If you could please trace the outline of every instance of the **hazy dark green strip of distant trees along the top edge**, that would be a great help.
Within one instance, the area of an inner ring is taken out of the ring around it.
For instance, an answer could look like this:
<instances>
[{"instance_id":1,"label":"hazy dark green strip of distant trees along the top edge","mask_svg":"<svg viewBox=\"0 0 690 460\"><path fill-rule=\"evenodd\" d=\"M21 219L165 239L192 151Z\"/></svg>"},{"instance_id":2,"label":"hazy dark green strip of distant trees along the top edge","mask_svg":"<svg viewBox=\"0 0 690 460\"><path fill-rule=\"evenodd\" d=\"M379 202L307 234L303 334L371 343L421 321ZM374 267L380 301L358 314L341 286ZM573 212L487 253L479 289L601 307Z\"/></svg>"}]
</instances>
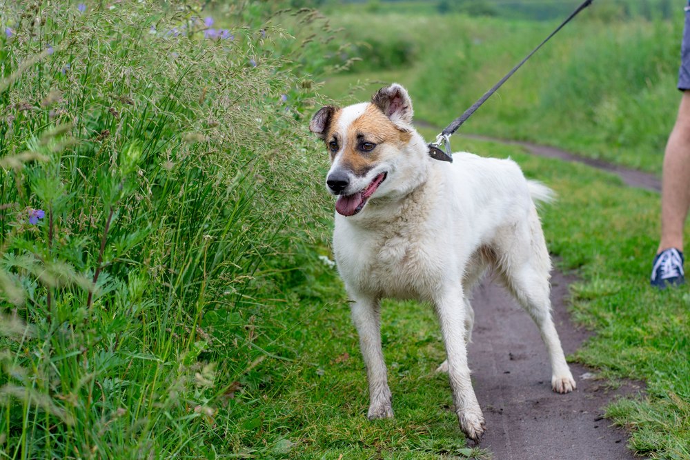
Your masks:
<instances>
[{"instance_id":1,"label":"hazy dark green strip of distant trees along the top edge","mask_svg":"<svg viewBox=\"0 0 690 460\"><path fill-rule=\"evenodd\" d=\"M562 18L582 0L289 0L295 7L333 7L359 3L366 12L464 13L544 21ZM678 0L594 0L591 15L603 20L635 17L671 19L684 6Z\"/></svg>"}]
</instances>

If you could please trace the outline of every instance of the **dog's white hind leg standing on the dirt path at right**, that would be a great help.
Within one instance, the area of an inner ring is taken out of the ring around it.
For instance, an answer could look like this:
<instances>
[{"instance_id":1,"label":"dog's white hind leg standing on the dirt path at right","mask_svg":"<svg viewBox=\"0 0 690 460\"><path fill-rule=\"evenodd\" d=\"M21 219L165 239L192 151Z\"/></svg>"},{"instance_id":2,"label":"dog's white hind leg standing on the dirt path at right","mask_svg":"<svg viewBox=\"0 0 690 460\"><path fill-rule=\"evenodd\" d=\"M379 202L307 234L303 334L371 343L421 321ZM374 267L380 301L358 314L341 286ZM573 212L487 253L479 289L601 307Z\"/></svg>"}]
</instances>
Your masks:
<instances>
[{"instance_id":1,"label":"dog's white hind leg standing on the dirt path at right","mask_svg":"<svg viewBox=\"0 0 690 460\"><path fill-rule=\"evenodd\" d=\"M507 244L497 251L498 268L513 297L539 328L551 361L553 391L567 393L575 390L575 380L551 318L551 260L535 210L532 210L529 224L530 228L511 230L512 238L505 239Z\"/></svg>"}]
</instances>

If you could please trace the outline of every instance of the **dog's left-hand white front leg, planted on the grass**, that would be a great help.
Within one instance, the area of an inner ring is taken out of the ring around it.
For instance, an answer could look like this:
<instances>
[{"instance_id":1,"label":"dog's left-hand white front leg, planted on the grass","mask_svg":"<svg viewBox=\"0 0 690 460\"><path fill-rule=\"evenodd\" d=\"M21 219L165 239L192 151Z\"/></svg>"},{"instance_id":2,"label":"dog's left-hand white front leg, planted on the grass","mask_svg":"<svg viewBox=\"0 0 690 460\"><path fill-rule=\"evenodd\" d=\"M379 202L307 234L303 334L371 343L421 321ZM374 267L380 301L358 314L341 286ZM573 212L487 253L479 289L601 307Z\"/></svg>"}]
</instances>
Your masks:
<instances>
[{"instance_id":1,"label":"dog's left-hand white front leg, planted on the grass","mask_svg":"<svg viewBox=\"0 0 690 460\"><path fill-rule=\"evenodd\" d=\"M352 304L352 318L359 334L366 376L369 381L369 411L367 417L392 419L391 390L388 388L386 363L381 348L381 314L379 302L373 298L357 298Z\"/></svg>"}]
</instances>

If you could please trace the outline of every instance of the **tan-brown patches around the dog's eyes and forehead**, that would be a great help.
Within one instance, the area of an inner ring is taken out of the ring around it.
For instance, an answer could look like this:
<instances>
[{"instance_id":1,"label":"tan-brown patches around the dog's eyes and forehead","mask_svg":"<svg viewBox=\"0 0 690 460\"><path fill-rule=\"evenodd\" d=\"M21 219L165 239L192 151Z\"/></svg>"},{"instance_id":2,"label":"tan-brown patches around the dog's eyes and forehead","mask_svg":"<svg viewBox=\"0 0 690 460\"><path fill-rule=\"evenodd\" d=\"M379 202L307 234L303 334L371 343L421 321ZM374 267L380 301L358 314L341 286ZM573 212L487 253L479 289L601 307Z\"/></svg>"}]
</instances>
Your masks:
<instances>
[{"instance_id":1,"label":"tan-brown patches around the dog's eyes and forehead","mask_svg":"<svg viewBox=\"0 0 690 460\"><path fill-rule=\"evenodd\" d=\"M338 126L337 118L341 113L334 114L331 123L331 132L326 137L326 147L331 152L331 161L336 154L342 156L340 161L343 168L351 170L357 176L366 175L380 160L384 145L403 148L412 138L412 133L395 124L373 104L369 104L364 113L357 117L345 132ZM334 152L331 143L337 143L338 149ZM374 147L366 150L369 144ZM344 148L343 148L344 146Z\"/></svg>"}]
</instances>

